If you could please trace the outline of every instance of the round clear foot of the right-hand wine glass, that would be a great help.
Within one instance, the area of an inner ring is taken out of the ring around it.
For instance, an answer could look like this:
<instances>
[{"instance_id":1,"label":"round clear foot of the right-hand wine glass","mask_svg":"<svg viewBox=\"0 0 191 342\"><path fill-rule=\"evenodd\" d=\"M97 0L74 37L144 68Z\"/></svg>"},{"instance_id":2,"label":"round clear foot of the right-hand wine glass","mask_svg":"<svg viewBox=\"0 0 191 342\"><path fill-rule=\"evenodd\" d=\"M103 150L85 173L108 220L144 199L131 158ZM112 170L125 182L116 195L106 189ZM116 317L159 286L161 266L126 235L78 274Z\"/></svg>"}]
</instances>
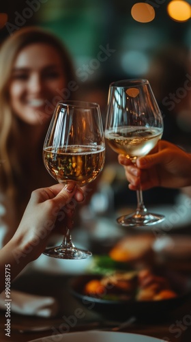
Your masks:
<instances>
[{"instance_id":1,"label":"round clear foot of the right-hand wine glass","mask_svg":"<svg viewBox=\"0 0 191 342\"><path fill-rule=\"evenodd\" d=\"M152 226L153 224L158 224L164 221L163 215L158 215L155 213L132 213L129 215L123 215L120 218L117 218L117 222L121 224L121 226L130 226L130 227L143 227L143 226Z\"/></svg>"}]
</instances>

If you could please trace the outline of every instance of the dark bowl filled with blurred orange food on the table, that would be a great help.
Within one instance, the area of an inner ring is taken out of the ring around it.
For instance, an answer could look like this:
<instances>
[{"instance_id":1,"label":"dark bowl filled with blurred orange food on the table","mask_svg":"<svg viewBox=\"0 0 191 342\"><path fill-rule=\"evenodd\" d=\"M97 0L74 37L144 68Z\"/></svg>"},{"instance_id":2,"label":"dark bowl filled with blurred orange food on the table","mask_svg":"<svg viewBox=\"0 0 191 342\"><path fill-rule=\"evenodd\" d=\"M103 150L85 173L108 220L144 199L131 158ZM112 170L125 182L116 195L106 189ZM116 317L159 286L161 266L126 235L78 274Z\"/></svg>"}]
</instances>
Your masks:
<instances>
[{"instance_id":1,"label":"dark bowl filled with blurred orange food on the table","mask_svg":"<svg viewBox=\"0 0 191 342\"><path fill-rule=\"evenodd\" d=\"M107 317L145 317L181 306L190 294L190 280L168 269L115 270L70 280L70 291L89 309Z\"/></svg>"}]
</instances>

